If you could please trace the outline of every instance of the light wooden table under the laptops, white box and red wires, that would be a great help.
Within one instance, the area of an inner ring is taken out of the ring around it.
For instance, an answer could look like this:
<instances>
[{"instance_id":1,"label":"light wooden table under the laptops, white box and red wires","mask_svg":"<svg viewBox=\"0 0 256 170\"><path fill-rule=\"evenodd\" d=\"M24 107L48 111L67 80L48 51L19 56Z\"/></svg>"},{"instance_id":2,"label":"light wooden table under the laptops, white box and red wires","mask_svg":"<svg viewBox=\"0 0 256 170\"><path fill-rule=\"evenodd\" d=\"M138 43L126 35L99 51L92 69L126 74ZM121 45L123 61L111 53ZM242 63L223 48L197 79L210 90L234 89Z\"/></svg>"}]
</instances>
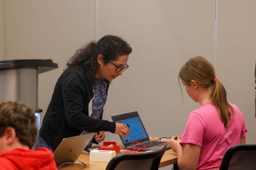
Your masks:
<instances>
[{"instance_id":1,"label":"light wooden table under the laptops, white box and red wires","mask_svg":"<svg viewBox=\"0 0 256 170\"><path fill-rule=\"evenodd\" d=\"M151 139L151 137L149 137ZM159 137L154 137L155 139L158 139ZM154 139L153 139L154 140ZM170 141L170 139L163 139L164 141ZM122 144L121 140L117 141L116 144L120 146L121 148L124 148L124 145ZM127 153L129 154L129 153ZM77 165L67 165L63 166L60 169L71 169L71 170L77 170L77 169L93 169L93 170L105 170L108 163L105 162L90 162L89 153L81 153L81 155L78 157L79 160L83 161L86 164L86 167L77 166ZM75 163L81 164L80 162L76 161ZM159 167L171 165L177 163L177 153L173 152L172 149L167 149L160 161Z\"/></svg>"}]
</instances>

